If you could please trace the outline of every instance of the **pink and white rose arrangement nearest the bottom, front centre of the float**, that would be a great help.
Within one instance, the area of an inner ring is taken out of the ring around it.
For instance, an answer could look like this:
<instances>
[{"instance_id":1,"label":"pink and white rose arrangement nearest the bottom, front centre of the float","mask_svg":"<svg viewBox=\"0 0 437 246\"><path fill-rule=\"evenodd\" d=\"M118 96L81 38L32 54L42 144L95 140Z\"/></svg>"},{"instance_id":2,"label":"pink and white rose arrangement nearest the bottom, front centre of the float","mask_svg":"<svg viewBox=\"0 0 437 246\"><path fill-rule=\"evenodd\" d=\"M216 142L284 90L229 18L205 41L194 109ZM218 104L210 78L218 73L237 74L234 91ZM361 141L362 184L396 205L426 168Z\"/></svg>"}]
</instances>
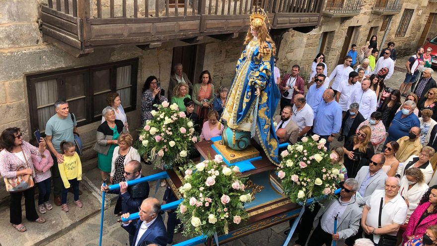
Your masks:
<instances>
[{"instance_id":1,"label":"pink and white rose arrangement nearest the bottom, front centre of the float","mask_svg":"<svg viewBox=\"0 0 437 246\"><path fill-rule=\"evenodd\" d=\"M227 167L221 155L216 155L212 161L187 167L179 188L184 201L177 209L185 225L184 236L228 234L230 225L247 219L243 204L252 198L244 189L247 178L236 174L240 172L237 166Z\"/></svg>"}]
</instances>

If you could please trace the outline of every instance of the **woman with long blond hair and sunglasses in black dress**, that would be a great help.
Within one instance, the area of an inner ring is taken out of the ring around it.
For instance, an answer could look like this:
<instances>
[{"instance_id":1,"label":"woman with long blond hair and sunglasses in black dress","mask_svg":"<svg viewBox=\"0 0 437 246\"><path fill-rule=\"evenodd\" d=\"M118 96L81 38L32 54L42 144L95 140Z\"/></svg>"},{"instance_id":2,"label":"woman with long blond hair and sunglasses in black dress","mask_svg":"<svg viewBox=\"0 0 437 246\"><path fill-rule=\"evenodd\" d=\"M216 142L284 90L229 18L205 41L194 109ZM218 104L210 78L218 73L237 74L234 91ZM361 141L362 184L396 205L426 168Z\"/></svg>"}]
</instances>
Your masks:
<instances>
[{"instance_id":1,"label":"woman with long blond hair and sunglasses in black dress","mask_svg":"<svg viewBox=\"0 0 437 246\"><path fill-rule=\"evenodd\" d=\"M375 154L370 137L372 130L368 126L362 126L358 133L349 138L344 147L345 167L348 171L348 178L355 178L358 170L369 164L369 160Z\"/></svg>"}]
</instances>

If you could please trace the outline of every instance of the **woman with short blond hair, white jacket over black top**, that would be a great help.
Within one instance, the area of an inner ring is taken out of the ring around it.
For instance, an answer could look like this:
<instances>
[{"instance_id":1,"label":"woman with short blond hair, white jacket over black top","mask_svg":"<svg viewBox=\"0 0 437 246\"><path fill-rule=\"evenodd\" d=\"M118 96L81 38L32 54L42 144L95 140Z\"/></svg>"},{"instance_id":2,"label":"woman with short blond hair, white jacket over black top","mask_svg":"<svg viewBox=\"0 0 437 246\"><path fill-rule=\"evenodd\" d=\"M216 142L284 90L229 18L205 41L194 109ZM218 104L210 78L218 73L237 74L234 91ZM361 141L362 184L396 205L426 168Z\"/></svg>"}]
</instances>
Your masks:
<instances>
[{"instance_id":1,"label":"woman with short blond hair, white jacket over black top","mask_svg":"<svg viewBox=\"0 0 437 246\"><path fill-rule=\"evenodd\" d=\"M406 162L399 164L396 171L396 177L402 178L405 176L405 171L407 169L417 167L423 172L425 183L428 184L434 174L433 166L430 163L430 159L434 154L436 154L436 151L432 147L422 147L419 156L412 155Z\"/></svg>"}]
</instances>

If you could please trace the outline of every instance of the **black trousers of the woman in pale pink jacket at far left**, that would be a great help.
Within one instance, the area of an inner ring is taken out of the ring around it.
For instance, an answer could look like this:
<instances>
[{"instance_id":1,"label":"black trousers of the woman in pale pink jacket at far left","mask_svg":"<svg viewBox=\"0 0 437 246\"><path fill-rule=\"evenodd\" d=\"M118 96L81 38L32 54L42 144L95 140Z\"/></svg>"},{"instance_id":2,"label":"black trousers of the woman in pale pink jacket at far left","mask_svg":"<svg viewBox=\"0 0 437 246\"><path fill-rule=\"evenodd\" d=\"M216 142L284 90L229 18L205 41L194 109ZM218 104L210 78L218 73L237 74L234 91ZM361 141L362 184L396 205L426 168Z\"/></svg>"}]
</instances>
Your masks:
<instances>
[{"instance_id":1,"label":"black trousers of the woman in pale pink jacket at far left","mask_svg":"<svg viewBox=\"0 0 437 246\"><path fill-rule=\"evenodd\" d=\"M10 194L9 222L14 225L21 224L21 197L24 195L24 206L26 208L26 219L34 221L39 218L35 208L35 189L32 187L25 191L13 192Z\"/></svg>"}]
</instances>

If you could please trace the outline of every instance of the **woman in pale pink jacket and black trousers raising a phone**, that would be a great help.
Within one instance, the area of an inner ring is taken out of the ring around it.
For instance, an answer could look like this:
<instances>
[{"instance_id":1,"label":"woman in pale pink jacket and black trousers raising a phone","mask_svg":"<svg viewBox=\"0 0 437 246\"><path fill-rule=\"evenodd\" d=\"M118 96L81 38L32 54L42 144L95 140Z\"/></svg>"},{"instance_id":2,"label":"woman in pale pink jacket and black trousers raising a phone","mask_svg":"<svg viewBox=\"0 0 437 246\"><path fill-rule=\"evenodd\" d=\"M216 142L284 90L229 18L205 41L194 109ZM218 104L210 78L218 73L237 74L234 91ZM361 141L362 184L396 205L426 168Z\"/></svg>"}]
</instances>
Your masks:
<instances>
[{"instance_id":1,"label":"woman in pale pink jacket and black trousers raising a phone","mask_svg":"<svg viewBox=\"0 0 437 246\"><path fill-rule=\"evenodd\" d=\"M21 175L30 174L35 177L31 154L41 156L45 151L46 143L40 139L38 148L23 140L20 128L5 129L0 135L0 174L3 178L12 179ZM20 168L24 167L24 168ZM35 189L30 187L19 192L10 192L9 222L18 232L25 232L26 227L21 224L21 197L24 195L26 219L37 223L46 220L39 217L35 208Z\"/></svg>"}]
</instances>

